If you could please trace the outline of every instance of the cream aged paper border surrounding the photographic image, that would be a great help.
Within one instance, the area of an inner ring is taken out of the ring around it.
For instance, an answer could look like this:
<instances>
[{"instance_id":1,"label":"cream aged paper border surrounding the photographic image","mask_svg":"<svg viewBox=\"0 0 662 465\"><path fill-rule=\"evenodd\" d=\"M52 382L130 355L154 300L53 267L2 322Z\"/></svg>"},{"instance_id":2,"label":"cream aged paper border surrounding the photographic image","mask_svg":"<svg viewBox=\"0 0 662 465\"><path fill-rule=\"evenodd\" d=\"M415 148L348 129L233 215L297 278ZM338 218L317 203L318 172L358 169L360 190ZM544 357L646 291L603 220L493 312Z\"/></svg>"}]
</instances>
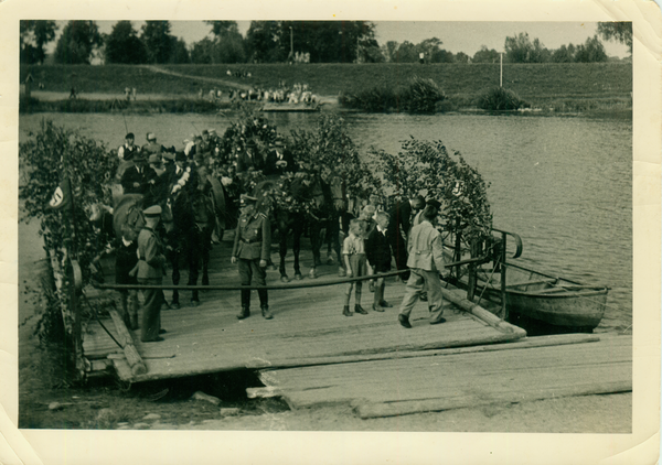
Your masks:
<instances>
[{"instance_id":1,"label":"cream aged paper border surrounding the photographic image","mask_svg":"<svg viewBox=\"0 0 662 465\"><path fill-rule=\"evenodd\" d=\"M631 434L19 430L19 22L43 20L632 21ZM652 464L660 447L662 14L643 0L0 1L1 464Z\"/></svg>"}]
</instances>

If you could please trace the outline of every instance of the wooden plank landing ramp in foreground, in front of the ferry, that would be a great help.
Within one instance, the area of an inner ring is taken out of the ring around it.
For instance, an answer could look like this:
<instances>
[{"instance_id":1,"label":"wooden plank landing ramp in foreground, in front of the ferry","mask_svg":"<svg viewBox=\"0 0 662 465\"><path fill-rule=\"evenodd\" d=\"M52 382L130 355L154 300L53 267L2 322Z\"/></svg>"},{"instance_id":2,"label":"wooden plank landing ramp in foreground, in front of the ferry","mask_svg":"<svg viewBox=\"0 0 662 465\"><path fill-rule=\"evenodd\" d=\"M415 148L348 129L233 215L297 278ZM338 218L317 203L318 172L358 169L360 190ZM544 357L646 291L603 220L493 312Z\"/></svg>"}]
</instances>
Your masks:
<instances>
[{"instance_id":1,"label":"wooden plank landing ramp in foreground, in front of the ferry","mask_svg":"<svg viewBox=\"0 0 662 465\"><path fill-rule=\"evenodd\" d=\"M587 344L579 344L587 343ZM632 390L632 338L558 335L429 356L261 370L290 408L349 403L361 418Z\"/></svg>"}]
</instances>

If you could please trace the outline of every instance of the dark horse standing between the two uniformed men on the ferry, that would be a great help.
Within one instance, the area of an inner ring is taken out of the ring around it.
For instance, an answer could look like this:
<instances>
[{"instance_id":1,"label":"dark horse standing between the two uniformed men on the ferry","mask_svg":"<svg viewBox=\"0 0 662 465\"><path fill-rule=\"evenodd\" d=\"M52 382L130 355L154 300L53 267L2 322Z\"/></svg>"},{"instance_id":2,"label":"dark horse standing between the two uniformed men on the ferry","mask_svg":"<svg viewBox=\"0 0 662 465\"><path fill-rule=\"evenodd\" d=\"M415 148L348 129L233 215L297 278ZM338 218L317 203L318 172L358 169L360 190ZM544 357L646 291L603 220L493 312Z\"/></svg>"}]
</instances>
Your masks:
<instances>
[{"instance_id":1,"label":"dark horse standing between the two uniformed men on the ferry","mask_svg":"<svg viewBox=\"0 0 662 465\"><path fill-rule=\"evenodd\" d=\"M202 186L201 186L202 187ZM196 285L202 268L202 285L210 284L209 263L212 248L212 233L216 226L216 215L210 194L204 188L180 190L172 196L173 229L169 235L171 244L170 262L172 283L180 282L180 260L189 268L188 285ZM192 291L191 305L200 303L199 291ZM172 291L173 309L179 309L179 291Z\"/></svg>"}]
</instances>

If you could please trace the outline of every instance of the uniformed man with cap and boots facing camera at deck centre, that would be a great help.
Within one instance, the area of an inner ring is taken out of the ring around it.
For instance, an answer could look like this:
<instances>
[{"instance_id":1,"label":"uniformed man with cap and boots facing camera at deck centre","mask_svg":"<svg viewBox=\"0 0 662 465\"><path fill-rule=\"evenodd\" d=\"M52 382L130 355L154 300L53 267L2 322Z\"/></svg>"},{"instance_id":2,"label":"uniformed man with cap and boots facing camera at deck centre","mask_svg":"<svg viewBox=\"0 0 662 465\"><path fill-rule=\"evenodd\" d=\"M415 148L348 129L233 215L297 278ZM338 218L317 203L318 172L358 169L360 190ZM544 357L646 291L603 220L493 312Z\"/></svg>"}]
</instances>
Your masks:
<instances>
[{"instance_id":1,"label":"uniformed man with cap and boots facing camera at deck centre","mask_svg":"<svg viewBox=\"0 0 662 465\"><path fill-rule=\"evenodd\" d=\"M235 233L232 262L238 262L242 285L250 285L255 277L256 285L267 285L267 263L271 251L271 225L264 213L255 208L257 198L242 195L242 215ZM258 289L259 305L265 320L271 320L269 299L266 289ZM250 316L250 290L242 290L242 310L238 320Z\"/></svg>"}]
</instances>

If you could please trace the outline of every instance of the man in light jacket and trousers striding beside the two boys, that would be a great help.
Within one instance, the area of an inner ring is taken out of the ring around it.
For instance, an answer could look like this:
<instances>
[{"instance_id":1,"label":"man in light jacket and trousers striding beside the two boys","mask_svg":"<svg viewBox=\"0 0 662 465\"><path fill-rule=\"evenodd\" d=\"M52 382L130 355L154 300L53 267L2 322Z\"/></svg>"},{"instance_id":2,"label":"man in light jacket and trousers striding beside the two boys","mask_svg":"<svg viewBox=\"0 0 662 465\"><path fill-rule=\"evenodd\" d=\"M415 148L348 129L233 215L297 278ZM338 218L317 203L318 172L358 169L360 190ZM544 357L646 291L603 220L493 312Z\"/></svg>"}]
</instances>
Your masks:
<instances>
[{"instance_id":1,"label":"man in light jacket and trousers striding beside the two boys","mask_svg":"<svg viewBox=\"0 0 662 465\"><path fill-rule=\"evenodd\" d=\"M435 227L439 209L435 205L426 205L420 215L420 224L412 228L409 235L408 259L410 277L407 280L405 296L399 307L397 320L406 328L410 328L409 315L424 289L428 293L429 323L444 323L444 299L441 296L440 274L445 270L444 239Z\"/></svg>"}]
</instances>

